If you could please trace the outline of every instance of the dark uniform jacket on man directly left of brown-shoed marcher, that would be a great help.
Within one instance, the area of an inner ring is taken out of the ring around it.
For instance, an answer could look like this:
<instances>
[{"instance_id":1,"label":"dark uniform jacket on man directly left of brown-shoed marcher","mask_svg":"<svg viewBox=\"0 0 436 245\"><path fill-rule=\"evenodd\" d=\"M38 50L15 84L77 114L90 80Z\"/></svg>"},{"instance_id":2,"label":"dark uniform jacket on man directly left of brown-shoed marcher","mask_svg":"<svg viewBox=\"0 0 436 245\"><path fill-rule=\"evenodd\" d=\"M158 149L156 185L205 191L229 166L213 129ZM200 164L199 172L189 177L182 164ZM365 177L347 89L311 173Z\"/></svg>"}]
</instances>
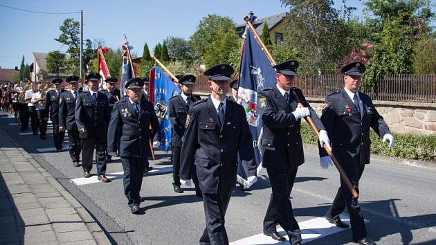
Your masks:
<instances>
[{"instance_id":1,"label":"dark uniform jacket on man directly left of brown-shoed marcher","mask_svg":"<svg viewBox=\"0 0 436 245\"><path fill-rule=\"evenodd\" d=\"M78 91L78 98L80 93ZM75 124L75 98L71 91L61 93L59 100L59 125L65 127L66 130L78 129Z\"/></svg>"}]
</instances>

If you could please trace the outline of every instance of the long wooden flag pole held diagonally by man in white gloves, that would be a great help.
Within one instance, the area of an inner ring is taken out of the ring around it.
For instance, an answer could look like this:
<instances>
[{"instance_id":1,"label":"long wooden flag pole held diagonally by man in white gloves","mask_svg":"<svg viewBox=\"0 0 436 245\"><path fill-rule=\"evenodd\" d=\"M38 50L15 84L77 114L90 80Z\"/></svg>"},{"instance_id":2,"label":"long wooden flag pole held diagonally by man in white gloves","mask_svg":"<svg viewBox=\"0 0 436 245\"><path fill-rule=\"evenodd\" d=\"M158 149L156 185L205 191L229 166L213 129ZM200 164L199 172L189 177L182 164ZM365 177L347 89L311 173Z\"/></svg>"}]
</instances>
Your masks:
<instances>
[{"instance_id":1,"label":"long wooden flag pole held diagonally by man in white gloves","mask_svg":"<svg viewBox=\"0 0 436 245\"><path fill-rule=\"evenodd\" d=\"M271 62L271 65L275 66L275 64L277 64L277 62L275 62L273 55L271 55L271 53L269 53L268 48L266 48L264 42L262 42L262 39L260 38L260 36L257 33L256 29L254 28L253 24L251 24L251 21L249 21L248 16L244 17L244 21L246 21L246 24L247 24L248 28L250 28L250 30L253 33L253 35L255 35L255 39L257 40L257 43L260 44L260 47L262 48L262 51L264 51L266 57L268 57L268 60ZM292 91L293 98L298 102L298 105L300 107L304 107L304 105L302 105L302 102L301 102L300 98L298 97L296 91L294 91L293 89L291 89L291 91ZM319 138L320 133L319 133L318 129L316 128L314 120L312 120L312 118L310 116L306 116L305 120L311 126L312 130L316 134L316 137ZM343 181L347 185L347 188L352 193L352 196L355 199L357 199L358 198L358 193L353 188L352 182L349 181L349 178L348 178L347 174L345 173L343 168L340 166L340 164L338 162L338 159L334 156L333 152L331 152L331 150L329 149L329 147L327 147L326 144L324 144L324 149L325 149L325 152L327 152L327 154L330 156L330 158L333 161L333 163L336 166L336 168L338 169L340 177L343 179Z\"/></svg>"}]
</instances>

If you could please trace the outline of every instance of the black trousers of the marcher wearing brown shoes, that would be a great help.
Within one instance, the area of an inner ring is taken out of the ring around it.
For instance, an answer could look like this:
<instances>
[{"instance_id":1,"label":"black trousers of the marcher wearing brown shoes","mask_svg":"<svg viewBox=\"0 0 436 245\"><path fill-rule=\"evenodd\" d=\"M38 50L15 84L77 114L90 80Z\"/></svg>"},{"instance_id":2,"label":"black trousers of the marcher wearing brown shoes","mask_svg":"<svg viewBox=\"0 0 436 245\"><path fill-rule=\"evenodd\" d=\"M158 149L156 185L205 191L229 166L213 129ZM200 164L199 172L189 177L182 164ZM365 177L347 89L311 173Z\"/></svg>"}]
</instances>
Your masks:
<instances>
[{"instance_id":1,"label":"black trousers of the marcher wearing brown shoes","mask_svg":"<svg viewBox=\"0 0 436 245\"><path fill-rule=\"evenodd\" d=\"M82 138L80 145L82 145L82 167L83 171L91 172L92 170L92 156L94 149L96 149L96 165L97 174L106 174L106 149L107 139L101 138Z\"/></svg>"}]
</instances>

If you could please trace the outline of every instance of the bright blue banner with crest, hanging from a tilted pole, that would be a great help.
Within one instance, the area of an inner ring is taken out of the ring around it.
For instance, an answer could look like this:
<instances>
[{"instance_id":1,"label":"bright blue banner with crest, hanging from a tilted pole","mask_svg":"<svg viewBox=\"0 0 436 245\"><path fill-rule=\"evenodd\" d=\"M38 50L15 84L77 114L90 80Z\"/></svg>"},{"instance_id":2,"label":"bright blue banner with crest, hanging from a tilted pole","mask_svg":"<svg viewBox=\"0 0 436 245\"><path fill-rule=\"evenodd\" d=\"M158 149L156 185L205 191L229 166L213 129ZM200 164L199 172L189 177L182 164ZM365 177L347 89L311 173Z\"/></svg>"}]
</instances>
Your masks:
<instances>
[{"instance_id":1,"label":"bright blue banner with crest, hanging from a tilted pole","mask_svg":"<svg viewBox=\"0 0 436 245\"><path fill-rule=\"evenodd\" d=\"M181 93L180 89L163 73L158 66L154 66L154 111L158 117L161 131L158 132L158 138L161 149L167 151L171 144L171 123L168 116L168 100L172 96Z\"/></svg>"}]
</instances>

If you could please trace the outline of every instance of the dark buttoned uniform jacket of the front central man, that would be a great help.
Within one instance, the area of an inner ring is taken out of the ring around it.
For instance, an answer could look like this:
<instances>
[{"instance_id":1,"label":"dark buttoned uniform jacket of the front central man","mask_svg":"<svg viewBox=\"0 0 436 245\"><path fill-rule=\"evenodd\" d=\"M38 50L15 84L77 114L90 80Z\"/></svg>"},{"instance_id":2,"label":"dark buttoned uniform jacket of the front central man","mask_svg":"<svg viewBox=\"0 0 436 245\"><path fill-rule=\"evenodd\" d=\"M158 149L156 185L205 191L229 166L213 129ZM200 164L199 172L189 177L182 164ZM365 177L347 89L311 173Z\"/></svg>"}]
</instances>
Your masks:
<instances>
[{"instance_id":1,"label":"dark buttoned uniform jacket of the front central man","mask_svg":"<svg viewBox=\"0 0 436 245\"><path fill-rule=\"evenodd\" d=\"M235 187L238 153L248 176L256 174L253 140L244 108L227 100L225 120L220 127L210 98L190 107L189 124L181 149L180 179L191 179L193 165L204 193Z\"/></svg>"}]
</instances>

